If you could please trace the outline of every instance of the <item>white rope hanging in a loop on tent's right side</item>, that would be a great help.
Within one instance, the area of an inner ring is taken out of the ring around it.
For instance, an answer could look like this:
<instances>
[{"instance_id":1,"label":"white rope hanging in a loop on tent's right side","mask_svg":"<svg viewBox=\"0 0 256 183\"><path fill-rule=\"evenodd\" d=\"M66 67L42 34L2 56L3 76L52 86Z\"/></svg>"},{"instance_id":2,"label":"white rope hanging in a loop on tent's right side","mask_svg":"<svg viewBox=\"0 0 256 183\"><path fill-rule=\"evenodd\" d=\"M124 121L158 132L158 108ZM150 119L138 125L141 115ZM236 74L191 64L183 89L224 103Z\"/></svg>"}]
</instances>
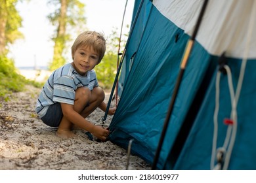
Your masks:
<instances>
[{"instance_id":1,"label":"white rope hanging in a loop on tent's right side","mask_svg":"<svg viewBox=\"0 0 256 183\"><path fill-rule=\"evenodd\" d=\"M244 82L244 74L245 74L245 67L247 65L247 56L249 53L249 47L250 47L250 41L253 33L253 26L255 23L255 16L256 16L256 3L253 1L251 16L249 20L248 25L248 31L247 31L247 38L246 38L246 44L245 44L245 50L244 50L244 56L242 59L242 65L240 68L240 75L238 78L238 85L236 87L236 93L234 93L234 87L232 84L232 74L230 71L230 68L227 65L224 65L224 69L226 69L227 75L228 75L228 88L230 90L230 98L231 98L231 105L232 105L232 111L230 114L230 118L233 122L232 125L228 126L226 138L223 144L224 150L228 149L226 151L226 154L224 155L223 160L223 169L228 169L228 165L230 162L230 157L232 154L232 150L234 147L234 142L236 140L236 132L237 132L237 125L238 125L238 116L237 116L237 104L240 98L240 93L242 90L242 84ZM215 162L215 156L216 155L216 146L217 146L217 134L218 134L218 113L219 113L219 80L221 78L221 72L217 73L216 77L216 94L215 94L215 112L213 116L213 124L214 124L214 132L213 132L213 149L211 154L211 169L221 169L221 163L217 163L217 165L214 166Z\"/></svg>"}]
</instances>

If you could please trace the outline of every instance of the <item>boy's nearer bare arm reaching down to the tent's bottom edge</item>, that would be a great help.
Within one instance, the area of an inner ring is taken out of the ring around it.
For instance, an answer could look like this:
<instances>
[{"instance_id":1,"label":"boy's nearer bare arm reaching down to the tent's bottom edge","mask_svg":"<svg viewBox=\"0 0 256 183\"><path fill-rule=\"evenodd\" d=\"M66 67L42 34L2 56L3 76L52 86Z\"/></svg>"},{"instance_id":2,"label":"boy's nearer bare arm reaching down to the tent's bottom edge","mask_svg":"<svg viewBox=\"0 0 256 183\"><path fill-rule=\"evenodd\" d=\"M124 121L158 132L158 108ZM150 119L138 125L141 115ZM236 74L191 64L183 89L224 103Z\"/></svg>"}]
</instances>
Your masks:
<instances>
[{"instance_id":1,"label":"boy's nearer bare arm reaching down to the tent's bottom edge","mask_svg":"<svg viewBox=\"0 0 256 183\"><path fill-rule=\"evenodd\" d=\"M73 105L69 105L66 103L61 103L62 113L63 116L65 116L72 124L75 124L82 129L85 129L86 131L89 131L95 135L98 139L106 140L106 137L109 135L109 131L107 129L102 128L101 126L94 125L83 116L78 114L74 108Z\"/></svg>"}]
</instances>

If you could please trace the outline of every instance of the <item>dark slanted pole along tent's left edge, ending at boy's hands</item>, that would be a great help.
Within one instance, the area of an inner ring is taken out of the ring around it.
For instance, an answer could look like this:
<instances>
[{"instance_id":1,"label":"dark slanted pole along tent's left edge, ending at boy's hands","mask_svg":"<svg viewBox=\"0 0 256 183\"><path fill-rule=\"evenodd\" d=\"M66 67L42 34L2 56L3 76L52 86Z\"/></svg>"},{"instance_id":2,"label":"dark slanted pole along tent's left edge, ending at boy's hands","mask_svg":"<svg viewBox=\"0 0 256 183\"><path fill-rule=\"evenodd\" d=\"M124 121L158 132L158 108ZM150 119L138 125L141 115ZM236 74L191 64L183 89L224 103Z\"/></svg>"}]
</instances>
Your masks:
<instances>
[{"instance_id":1,"label":"dark slanted pole along tent's left edge, ending at boy's hands","mask_svg":"<svg viewBox=\"0 0 256 183\"><path fill-rule=\"evenodd\" d=\"M128 45L128 43L129 43L129 41L130 41L130 39L131 39L131 35L132 35L132 33L133 33L133 29L134 29L134 27L135 27L135 24L136 24L136 22L137 22L137 20L138 20L139 13L140 13L140 10L141 10L141 8L142 8L143 3L144 3L144 0L142 0L142 1L140 2L140 6L139 6L139 8L138 8L138 10L137 10L135 19L134 19L134 21L133 21L133 25L131 26L131 31L130 31L130 33L129 33L129 37L128 37L128 39L127 39L127 42L126 42L126 44L125 44L125 49L123 50L123 54L122 54L121 59L120 59L120 64L119 64L119 66L118 66L118 68L117 68L117 73L116 73L116 77L115 77L115 80L114 80L114 84L113 84L113 86L112 86L112 90L111 90L111 93L110 93L110 98L108 99L108 105L107 105L107 107L106 107L106 112L105 112L105 114L104 114L104 117L101 119L101 120L102 120L102 125L104 125L105 122L106 122L106 118L107 118L107 116L108 116L108 110L110 109L110 103L111 103L111 100L112 100L112 97L113 97L113 94L114 94L114 90L115 90L115 88L116 88L116 84L117 84L117 80L118 80L119 73L120 73L120 71L121 71L121 66L122 66L122 63L123 63L123 59L124 59L124 57L125 57L126 48L127 48L127 45ZM117 96L116 96L116 97L117 97Z\"/></svg>"}]
</instances>

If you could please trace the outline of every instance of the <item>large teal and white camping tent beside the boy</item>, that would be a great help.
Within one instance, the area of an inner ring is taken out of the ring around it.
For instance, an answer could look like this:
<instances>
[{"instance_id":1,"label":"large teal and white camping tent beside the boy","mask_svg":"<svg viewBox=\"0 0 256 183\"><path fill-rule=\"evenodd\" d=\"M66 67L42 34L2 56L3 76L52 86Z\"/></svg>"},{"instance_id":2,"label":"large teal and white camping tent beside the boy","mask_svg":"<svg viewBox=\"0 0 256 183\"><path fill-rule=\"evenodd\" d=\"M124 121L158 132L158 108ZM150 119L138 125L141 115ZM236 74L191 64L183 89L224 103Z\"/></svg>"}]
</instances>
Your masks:
<instances>
[{"instance_id":1,"label":"large teal and white camping tent beside the boy","mask_svg":"<svg viewBox=\"0 0 256 183\"><path fill-rule=\"evenodd\" d=\"M131 152L150 164L202 5L202 0L135 1L110 141L127 148L133 139ZM158 169L256 169L255 10L253 0L209 1ZM226 64L220 66L223 53Z\"/></svg>"}]
</instances>

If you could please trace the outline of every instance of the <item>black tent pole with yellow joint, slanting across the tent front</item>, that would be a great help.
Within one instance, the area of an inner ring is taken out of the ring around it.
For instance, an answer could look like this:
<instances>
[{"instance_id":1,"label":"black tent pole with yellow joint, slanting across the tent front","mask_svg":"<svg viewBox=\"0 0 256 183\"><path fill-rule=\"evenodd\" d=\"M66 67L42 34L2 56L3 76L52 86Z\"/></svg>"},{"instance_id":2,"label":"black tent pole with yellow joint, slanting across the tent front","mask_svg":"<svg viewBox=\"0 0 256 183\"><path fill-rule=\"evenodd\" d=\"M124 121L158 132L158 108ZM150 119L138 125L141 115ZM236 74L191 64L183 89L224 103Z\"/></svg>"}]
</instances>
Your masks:
<instances>
[{"instance_id":1,"label":"black tent pole with yellow joint, slanting across the tent front","mask_svg":"<svg viewBox=\"0 0 256 183\"><path fill-rule=\"evenodd\" d=\"M181 85L181 81L182 81L182 76L184 74L184 71L186 69L186 64L188 63L188 58L190 56L190 53L191 53L191 50L193 48L193 45L194 45L194 40L196 38L196 35L198 33L198 29L200 27L200 24L202 22L202 18L203 18L203 14L205 12L205 9L207 7L207 3L208 3L208 0L205 0L203 2L203 6L202 6L202 9L200 11L200 14L198 16L198 21L196 22L196 27L194 29L194 32L192 34L192 37L190 37L190 39L188 40L187 44L186 44L186 49L184 51L184 54L183 54L183 58L182 58L182 62L181 62L181 66L180 66L180 71L179 71L179 75L177 77L177 80L176 80L176 84L175 84L175 88L173 90L173 95L171 97L171 102L169 103L169 108L168 108L168 112L167 112L167 116L165 118L165 122L163 124L163 130L161 132L161 137L160 137L160 141L158 143L158 148L156 150L156 154L155 154L155 157L154 157L154 161L153 161L153 164L152 164L152 169L156 169L157 167L157 164L158 164L158 159L159 159L159 156L160 156L160 152L161 152L161 147L163 146L163 140L165 138L165 134L166 134L166 131L167 131L167 127L169 125L169 120L171 118L171 114L173 112L173 107L174 107L174 104L175 104L175 100L177 98L177 94L179 92L179 88L180 88L180 85Z\"/></svg>"}]
</instances>

